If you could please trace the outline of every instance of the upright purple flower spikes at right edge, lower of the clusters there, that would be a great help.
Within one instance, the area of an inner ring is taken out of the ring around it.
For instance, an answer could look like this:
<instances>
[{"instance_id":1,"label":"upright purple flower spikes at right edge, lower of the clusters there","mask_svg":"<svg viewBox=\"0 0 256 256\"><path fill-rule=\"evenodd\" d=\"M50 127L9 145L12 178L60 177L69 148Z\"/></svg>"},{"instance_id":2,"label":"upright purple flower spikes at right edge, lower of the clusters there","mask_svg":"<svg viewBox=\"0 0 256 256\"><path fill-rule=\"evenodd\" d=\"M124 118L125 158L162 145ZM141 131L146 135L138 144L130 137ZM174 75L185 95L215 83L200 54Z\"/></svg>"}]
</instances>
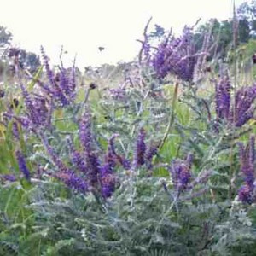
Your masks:
<instances>
[{"instance_id":1,"label":"upright purple flower spikes at right edge, lower of the clusters there","mask_svg":"<svg viewBox=\"0 0 256 256\"><path fill-rule=\"evenodd\" d=\"M248 204L252 204L255 201L254 195L254 167L255 167L255 137L250 137L247 147L242 143L238 143L239 156L241 163L241 173L244 176L244 184L239 189L239 199Z\"/></svg>"}]
</instances>

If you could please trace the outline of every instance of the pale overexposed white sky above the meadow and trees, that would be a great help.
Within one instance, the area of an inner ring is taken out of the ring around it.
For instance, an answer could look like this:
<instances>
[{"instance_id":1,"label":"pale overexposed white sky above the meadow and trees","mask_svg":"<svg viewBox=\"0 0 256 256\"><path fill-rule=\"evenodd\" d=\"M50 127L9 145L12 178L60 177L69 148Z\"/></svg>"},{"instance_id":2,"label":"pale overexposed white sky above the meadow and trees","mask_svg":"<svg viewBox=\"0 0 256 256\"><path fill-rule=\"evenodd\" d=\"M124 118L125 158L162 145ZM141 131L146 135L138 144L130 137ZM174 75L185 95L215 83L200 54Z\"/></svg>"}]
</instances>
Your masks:
<instances>
[{"instance_id":1,"label":"pale overexposed white sky above the meadow and trees","mask_svg":"<svg viewBox=\"0 0 256 256\"><path fill-rule=\"evenodd\" d=\"M184 25L232 16L233 1L242 0L0 0L0 26L14 35L14 44L40 53L43 45L52 63L77 55L79 67L131 61L140 49L137 39L152 16L180 32ZM99 51L98 47L105 50Z\"/></svg>"}]
</instances>

